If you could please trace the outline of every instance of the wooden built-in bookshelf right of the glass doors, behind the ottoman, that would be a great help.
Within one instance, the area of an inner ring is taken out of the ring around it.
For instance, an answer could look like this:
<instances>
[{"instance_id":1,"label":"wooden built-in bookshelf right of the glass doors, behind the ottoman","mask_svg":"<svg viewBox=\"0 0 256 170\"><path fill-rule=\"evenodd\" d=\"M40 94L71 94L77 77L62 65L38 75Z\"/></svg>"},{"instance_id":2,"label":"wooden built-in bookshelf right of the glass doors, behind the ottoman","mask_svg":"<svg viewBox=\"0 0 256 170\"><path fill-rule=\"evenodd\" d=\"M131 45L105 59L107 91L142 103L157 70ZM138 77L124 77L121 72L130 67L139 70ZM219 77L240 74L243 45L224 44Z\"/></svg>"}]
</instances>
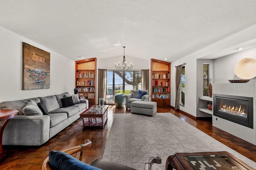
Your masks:
<instances>
[{"instance_id":1,"label":"wooden built-in bookshelf right of the glass doors, behind the ottoman","mask_svg":"<svg viewBox=\"0 0 256 170\"><path fill-rule=\"evenodd\" d=\"M170 106L171 63L151 59L151 101L158 107Z\"/></svg>"}]
</instances>

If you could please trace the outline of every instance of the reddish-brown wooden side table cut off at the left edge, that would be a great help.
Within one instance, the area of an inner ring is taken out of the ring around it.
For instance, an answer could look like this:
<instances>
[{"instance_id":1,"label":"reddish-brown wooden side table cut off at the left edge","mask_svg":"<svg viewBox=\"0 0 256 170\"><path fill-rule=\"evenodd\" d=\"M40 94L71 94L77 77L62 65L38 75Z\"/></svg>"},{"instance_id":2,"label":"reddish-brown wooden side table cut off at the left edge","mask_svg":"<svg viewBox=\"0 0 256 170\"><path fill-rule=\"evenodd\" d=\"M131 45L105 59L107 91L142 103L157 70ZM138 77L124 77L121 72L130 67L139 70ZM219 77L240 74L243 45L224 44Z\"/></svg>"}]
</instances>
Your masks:
<instances>
[{"instance_id":1,"label":"reddish-brown wooden side table cut off at the left edge","mask_svg":"<svg viewBox=\"0 0 256 170\"><path fill-rule=\"evenodd\" d=\"M4 133L4 128L6 127L8 121L15 117L18 114L18 110L14 109L4 109L0 110L0 121L2 121L2 125L0 125L0 161L3 160L7 154L6 150L2 148L2 137Z\"/></svg>"}]
</instances>

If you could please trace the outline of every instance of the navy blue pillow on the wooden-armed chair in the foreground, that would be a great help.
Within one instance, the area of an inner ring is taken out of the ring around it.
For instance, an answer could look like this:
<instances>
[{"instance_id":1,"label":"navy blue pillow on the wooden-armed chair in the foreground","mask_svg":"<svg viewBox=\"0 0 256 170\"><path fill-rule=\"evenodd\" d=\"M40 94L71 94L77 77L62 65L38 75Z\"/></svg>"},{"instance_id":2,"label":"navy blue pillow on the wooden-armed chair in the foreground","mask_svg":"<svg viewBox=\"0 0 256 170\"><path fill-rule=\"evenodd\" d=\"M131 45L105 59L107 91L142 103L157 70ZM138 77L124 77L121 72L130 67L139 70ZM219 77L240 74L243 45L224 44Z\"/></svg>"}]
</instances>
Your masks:
<instances>
[{"instance_id":1,"label":"navy blue pillow on the wooden-armed chair in the foreground","mask_svg":"<svg viewBox=\"0 0 256 170\"><path fill-rule=\"evenodd\" d=\"M86 164L65 152L56 150L50 151L49 164L50 167L55 170L101 170L100 168Z\"/></svg>"}]
</instances>

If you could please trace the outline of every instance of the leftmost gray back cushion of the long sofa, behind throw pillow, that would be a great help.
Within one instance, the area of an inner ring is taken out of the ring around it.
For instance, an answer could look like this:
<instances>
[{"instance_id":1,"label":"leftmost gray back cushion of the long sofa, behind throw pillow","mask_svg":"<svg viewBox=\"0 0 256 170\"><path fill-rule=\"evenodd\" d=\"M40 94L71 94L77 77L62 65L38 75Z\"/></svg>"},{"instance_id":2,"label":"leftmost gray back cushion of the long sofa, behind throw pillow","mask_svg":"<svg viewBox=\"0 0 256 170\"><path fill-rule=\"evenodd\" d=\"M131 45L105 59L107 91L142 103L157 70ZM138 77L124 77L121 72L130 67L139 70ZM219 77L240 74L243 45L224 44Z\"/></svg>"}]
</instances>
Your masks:
<instances>
[{"instance_id":1,"label":"leftmost gray back cushion of the long sofa, behind throw pillow","mask_svg":"<svg viewBox=\"0 0 256 170\"><path fill-rule=\"evenodd\" d=\"M1 102L1 109L16 109L19 111L18 115L24 115L22 112L22 109L27 104L28 104L27 100L15 100L15 101Z\"/></svg>"}]
</instances>

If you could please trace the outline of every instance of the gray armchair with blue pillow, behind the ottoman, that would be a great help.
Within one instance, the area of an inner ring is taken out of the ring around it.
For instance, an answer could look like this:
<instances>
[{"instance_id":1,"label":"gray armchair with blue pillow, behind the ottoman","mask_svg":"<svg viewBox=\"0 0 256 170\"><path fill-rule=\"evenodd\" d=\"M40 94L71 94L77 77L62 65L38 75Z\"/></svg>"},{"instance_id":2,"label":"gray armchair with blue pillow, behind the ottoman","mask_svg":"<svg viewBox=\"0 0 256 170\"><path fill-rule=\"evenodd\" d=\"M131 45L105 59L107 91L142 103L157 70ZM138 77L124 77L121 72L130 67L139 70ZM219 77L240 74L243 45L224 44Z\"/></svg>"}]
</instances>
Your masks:
<instances>
[{"instance_id":1,"label":"gray armchair with blue pillow, behind the ottoman","mask_svg":"<svg viewBox=\"0 0 256 170\"><path fill-rule=\"evenodd\" d=\"M146 94L144 96L142 96L141 99L136 98L136 96L138 94L138 90L131 90L130 94L124 95L126 110L128 108L131 108L131 103L134 102L134 101L138 101L138 100L140 100L140 101L149 101L150 94L148 93L148 90L140 90L140 91L146 92Z\"/></svg>"}]
</instances>

